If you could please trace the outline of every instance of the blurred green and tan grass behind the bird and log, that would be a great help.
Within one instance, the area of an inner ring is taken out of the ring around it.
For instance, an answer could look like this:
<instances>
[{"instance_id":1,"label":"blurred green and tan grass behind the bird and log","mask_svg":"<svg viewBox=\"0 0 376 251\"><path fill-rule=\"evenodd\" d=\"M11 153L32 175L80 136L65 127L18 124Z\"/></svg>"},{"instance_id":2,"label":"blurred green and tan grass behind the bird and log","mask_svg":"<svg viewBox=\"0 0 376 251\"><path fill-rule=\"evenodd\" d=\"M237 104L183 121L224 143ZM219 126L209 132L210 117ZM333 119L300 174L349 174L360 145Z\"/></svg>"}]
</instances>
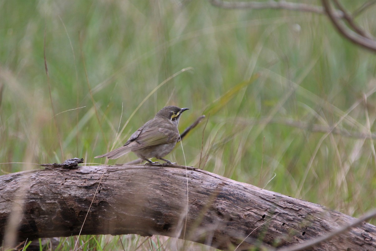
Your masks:
<instances>
[{"instance_id":1,"label":"blurred green and tan grass behind the bird and log","mask_svg":"<svg viewBox=\"0 0 376 251\"><path fill-rule=\"evenodd\" d=\"M375 34L374 11L356 21ZM5 0L0 16L2 174L104 163L177 105L180 130L208 120L168 159L355 217L374 207L374 143L355 136L376 131L376 57L325 16L156 0Z\"/></svg>"}]
</instances>

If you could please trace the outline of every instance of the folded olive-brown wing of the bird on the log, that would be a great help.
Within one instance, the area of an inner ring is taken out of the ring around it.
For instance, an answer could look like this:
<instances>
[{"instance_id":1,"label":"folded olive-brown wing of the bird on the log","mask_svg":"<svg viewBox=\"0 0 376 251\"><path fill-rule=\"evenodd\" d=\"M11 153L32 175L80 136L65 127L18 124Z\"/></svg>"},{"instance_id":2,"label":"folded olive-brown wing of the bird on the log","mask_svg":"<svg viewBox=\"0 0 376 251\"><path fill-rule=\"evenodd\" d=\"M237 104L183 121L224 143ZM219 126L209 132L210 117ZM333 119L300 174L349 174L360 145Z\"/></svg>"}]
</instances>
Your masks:
<instances>
[{"instance_id":1,"label":"folded olive-brown wing of the bird on the log","mask_svg":"<svg viewBox=\"0 0 376 251\"><path fill-rule=\"evenodd\" d=\"M179 133L174 128L148 128L144 129L134 140L139 145L133 146L132 150L158 146L166 143L176 142Z\"/></svg>"}]
</instances>

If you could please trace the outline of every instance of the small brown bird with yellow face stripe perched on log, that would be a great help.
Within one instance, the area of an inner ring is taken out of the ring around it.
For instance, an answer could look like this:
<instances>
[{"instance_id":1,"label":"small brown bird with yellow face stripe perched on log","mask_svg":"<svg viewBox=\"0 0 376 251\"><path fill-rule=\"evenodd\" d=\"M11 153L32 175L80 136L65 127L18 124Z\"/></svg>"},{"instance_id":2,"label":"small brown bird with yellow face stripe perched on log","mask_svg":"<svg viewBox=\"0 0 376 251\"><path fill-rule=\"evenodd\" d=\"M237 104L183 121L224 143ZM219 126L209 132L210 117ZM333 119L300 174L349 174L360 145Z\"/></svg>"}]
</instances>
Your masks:
<instances>
[{"instance_id":1,"label":"small brown bird with yellow face stripe perched on log","mask_svg":"<svg viewBox=\"0 0 376 251\"><path fill-rule=\"evenodd\" d=\"M153 119L138 128L124 146L95 158L116 159L132 151L150 164L159 163L153 162L149 158L157 158L172 164L171 161L165 160L163 157L174 149L179 140L180 134L177 124L180 114L186 110L189 110L189 108L179 108L173 105L162 108Z\"/></svg>"}]
</instances>

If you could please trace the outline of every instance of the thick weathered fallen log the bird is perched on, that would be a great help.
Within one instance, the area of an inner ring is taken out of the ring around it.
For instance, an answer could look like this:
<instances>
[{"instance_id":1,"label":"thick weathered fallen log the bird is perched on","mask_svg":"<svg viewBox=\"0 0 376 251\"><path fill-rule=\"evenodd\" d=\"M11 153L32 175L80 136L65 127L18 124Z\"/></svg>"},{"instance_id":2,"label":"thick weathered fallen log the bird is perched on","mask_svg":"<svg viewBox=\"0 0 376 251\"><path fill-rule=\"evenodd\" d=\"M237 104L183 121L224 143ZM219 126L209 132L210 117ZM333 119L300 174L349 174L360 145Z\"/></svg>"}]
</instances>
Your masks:
<instances>
[{"instance_id":1,"label":"thick weathered fallen log the bird is perched on","mask_svg":"<svg viewBox=\"0 0 376 251\"><path fill-rule=\"evenodd\" d=\"M90 208L81 234L159 234L223 250L242 241L237 250L294 245L354 220L192 167L144 165L0 176L0 241L9 215L21 207L19 240L77 235ZM309 250L376 250L375 229L363 223Z\"/></svg>"}]
</instances>

